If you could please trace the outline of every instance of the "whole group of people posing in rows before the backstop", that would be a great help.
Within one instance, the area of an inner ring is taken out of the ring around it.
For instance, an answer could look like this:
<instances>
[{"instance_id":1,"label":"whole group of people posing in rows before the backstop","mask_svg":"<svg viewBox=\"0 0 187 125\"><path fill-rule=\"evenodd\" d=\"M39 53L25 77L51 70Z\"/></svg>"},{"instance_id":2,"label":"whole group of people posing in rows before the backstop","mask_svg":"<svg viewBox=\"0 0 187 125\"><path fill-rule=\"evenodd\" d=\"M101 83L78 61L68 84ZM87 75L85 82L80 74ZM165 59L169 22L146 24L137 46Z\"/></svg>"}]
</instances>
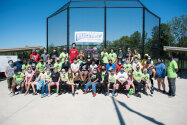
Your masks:
<instances>
[{"instance_id":1,"label":"whole group of people posing in rows before the backstop","mask_svg":"<svg viewBox=\"0 0 187 125\"><path fill-rule=\"evenodd\" d=\"M153 94L153 79L157 80L157 90L167 93L164 82L167 73L168 95L174 97L178 66L172 56L168 59L167 67L161 58L154 65L150 55L145 54L141 60L137 50L132 52L130 48L126 52L119 48L118 53L113 48L108 53L104 48L99 53L94 47L91 53L84 53L83 50L78 51L73 43L69 52L64 48L60 55L53 48L51 54L44 49L42 55L33 50L30 60L20 57L15 62L9 60L5 76L11 96L16 92L25 95L41 93L41 98L66 92L75 96L80 88L83 94L92 92L93 97L96 93L105 96L111 93L115 97L125 93L129 98L133 94L137 97L141 97L141 93Z\"/></svg>"}]
</instances>

